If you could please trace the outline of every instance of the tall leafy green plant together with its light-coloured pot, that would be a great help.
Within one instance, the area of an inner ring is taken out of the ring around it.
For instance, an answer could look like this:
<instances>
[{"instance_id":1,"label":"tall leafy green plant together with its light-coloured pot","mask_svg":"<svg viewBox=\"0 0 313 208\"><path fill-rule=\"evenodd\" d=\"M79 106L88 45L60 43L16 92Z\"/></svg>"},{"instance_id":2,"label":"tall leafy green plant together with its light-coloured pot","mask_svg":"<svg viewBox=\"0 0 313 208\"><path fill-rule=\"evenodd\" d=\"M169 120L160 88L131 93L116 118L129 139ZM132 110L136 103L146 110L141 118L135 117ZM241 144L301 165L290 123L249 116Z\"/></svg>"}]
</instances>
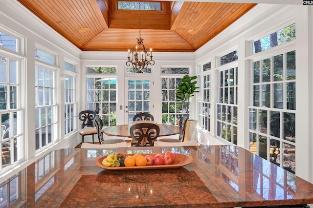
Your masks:
<instances>
[{"instance_id":1,"label":"tall leafy green plant together with its light-coloured pot","mask_svg":"<svg viewBox=\"0 0 313 208\"><path fill-rule=\"evenodd\" d=\"M189 119L189 107L190 107L190 98L195 96L197 89L199 89L197 84L197 76L190 77L188 74L184 75L176 87L176 101L182 102L182 113L186 112L188 122L185 130L185 139L184 141L189 141L189 138L193 138L196 132L196 125L198 120Z\"/></svg>"}]
</instances>

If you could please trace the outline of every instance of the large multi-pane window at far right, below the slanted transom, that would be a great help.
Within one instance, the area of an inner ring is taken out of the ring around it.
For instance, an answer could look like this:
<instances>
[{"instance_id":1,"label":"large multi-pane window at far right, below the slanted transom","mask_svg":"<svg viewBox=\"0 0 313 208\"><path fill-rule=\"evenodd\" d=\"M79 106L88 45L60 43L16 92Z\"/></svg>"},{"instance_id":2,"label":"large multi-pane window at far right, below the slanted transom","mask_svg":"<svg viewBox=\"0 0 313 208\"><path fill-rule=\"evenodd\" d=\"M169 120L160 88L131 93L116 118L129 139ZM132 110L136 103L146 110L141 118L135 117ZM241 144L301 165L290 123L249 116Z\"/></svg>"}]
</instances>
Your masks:
<instances>
[{"instance_id":1,"label":"large multi-pane window at far right, below the slanted transom","mask_svg":"<svg viewBox=\"0 0 313 208\"><path fill-rule=\"evenodd\" d=\"M252 62L250 151L291 172L295 172L295 76L295 51Z\"/></svg>"}]
</instances>

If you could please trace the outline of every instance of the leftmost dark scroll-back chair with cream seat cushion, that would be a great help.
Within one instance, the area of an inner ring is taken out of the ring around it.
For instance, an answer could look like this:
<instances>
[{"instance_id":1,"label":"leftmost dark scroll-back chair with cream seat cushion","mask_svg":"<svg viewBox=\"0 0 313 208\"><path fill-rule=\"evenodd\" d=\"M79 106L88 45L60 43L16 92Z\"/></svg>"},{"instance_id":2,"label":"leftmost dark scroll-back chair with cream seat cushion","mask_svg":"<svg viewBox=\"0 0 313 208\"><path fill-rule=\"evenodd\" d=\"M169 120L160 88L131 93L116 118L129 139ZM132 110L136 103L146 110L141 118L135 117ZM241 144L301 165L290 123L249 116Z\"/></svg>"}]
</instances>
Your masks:
<instances>
[{"instance_id":1,"label":"leftmost dark scroll-back chair with cream seat cushion","mask_svg":"<svg viewBox=\"0 0 313 208\"><path fill-rule=\"evenodd\" d=\"M93 125L95 117L96 113L92 110L83 110L78 114L79 120L83 121L82 129L79 132L82 135L82 143L84 143L84 136L88 135L92 135L92 143L94 143L93 135L97 134L97 129Z\"/></svg>"}]
</instances>

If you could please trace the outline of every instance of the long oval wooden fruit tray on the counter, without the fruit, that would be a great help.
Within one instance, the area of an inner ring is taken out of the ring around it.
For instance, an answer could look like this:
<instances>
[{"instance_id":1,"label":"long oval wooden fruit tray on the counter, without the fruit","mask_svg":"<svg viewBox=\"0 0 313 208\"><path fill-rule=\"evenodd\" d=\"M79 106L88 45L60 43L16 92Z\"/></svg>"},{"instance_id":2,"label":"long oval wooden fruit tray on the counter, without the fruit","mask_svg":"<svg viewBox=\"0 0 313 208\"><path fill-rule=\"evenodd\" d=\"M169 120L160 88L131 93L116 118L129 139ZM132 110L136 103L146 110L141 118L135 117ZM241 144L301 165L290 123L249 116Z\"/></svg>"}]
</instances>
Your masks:
<instances>
[{"instance_id":1,"label":"long oval wooden fruit tray on the counter, without the fruit","mask_svg":"<svg viewBox=\"0 0 313 208\"><path fill-rule=\"evenodd\" d=\"M146 153L142 153L142 156L146 156L146 155L151 155L151 156L155 156L156 154L161 154L161 153L151 153L151 154L146 154ZM134 170L134 169L165 169L165 168L179 168L182 166L186 166L189 163L192 162L192 157L189 155L185 155L185 154L179 154L179 153L174 153L176 156L176 159L174 161L173 165L161 165L161 166L131 166L131 167L108 167L108 166L103 166L102 165L102 161L104 158L106 158L108 155L99 157L95 159L95 164L98 167L107 169L107 170ZM124 154L124 157L126 158L129 155L134 155L134 154ZM164 156L164 154L162 154Z\"/></svg>"}]
</instances>

